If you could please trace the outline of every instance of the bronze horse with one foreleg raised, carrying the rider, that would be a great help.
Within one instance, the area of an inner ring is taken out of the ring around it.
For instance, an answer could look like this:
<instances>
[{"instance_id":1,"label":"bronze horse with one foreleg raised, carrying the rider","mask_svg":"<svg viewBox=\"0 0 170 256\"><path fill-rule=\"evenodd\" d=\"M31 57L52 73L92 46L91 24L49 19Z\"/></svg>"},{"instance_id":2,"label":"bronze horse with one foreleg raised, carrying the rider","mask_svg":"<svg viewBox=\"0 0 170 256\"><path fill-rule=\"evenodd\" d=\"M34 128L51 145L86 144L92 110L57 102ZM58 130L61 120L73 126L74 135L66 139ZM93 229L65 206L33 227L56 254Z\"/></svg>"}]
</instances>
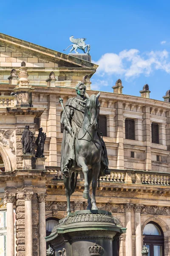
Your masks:
<instances>
[{"instance_id":1,"label":"bronze horse with one foreleg raised, carrying the rider","mask_svg":"<svg viewBox=\"0 0 170 256\"><path fill-rule=\"evenodd\" d=\"M68 177L64 176L65 191L67 197L67 213L71 212L70 197L77 185L78 172L82 170L85 178L83 198L88 199L87 209L96 210L97 178L100 172L102 158L102 144L98 127L99 96L86 93L85 116L82 125L75 138L75 158L77 165L70 170ZM90 184L92 182L92 198L90 196Z\"/></svg>"}]
</instances>

